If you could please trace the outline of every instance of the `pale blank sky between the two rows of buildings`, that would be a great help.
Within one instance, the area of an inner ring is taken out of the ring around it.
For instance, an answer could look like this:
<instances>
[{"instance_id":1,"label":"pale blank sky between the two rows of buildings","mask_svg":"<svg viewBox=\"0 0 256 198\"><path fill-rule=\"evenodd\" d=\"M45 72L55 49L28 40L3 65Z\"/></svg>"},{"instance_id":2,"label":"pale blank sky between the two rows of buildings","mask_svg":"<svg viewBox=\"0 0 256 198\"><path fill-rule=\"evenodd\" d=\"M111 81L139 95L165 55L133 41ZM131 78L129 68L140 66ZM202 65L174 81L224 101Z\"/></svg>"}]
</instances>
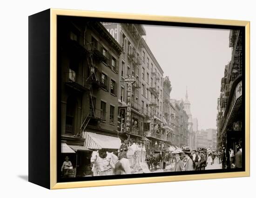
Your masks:
<instances>
[{"instance_id":1,"label":"pale blank sky between the two rows of buildings","mask_svg":"<svg viewBox=\"0 0 256 198\"><path fill-rule=\"evenodd\" d=\"M145 40L169 76L171 99L185 100L186 86L198 129L216 129L217 99L231 60L228 29L144 25Z\"/></svg>"}]
</instances>

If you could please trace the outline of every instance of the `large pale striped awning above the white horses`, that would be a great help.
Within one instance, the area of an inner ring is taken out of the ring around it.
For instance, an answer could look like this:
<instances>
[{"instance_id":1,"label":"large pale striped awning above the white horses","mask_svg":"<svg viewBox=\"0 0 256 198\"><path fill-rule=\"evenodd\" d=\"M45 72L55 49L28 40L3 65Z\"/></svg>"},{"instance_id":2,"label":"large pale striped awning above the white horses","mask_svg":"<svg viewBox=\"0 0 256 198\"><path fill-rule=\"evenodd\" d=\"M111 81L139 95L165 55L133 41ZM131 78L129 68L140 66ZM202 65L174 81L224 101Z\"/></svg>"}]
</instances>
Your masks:
<instances>
[{"instance_id":1,"label":"large pale striped awning above the white horses","mask_svg":"<svg viewBox=\"0 0 256 198\"><path fill-rule=\"evenodd\" d=\"M93 132L84 132L85 147L88 149L119 149L121 145L121 139L101 135Z\"/></svg>"}]
</instances>

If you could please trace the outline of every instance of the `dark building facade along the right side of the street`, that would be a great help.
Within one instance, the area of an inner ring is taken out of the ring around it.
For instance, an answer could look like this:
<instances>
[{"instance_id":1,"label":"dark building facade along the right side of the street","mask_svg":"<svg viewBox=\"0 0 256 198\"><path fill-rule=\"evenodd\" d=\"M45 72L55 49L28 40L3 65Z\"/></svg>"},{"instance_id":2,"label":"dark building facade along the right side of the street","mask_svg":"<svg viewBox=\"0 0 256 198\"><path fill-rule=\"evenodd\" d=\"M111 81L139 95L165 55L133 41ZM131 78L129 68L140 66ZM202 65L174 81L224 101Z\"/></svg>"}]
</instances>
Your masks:
<instances>
[{"instance_id":1,"label":"dark building facade along the right side of the street","mask_svg":"<svg viewBox=\"0 0 256 198\"><path fill-rule=\"evenodd\" d=\"M244 107L242 105L242 65L243 40L240 30L230 30L229 47L232 48L231 61L224 69L221 93L217 100L217 146L225 146L236 151L242 145L244 136Z\"/></svg>"}]
</instances>

